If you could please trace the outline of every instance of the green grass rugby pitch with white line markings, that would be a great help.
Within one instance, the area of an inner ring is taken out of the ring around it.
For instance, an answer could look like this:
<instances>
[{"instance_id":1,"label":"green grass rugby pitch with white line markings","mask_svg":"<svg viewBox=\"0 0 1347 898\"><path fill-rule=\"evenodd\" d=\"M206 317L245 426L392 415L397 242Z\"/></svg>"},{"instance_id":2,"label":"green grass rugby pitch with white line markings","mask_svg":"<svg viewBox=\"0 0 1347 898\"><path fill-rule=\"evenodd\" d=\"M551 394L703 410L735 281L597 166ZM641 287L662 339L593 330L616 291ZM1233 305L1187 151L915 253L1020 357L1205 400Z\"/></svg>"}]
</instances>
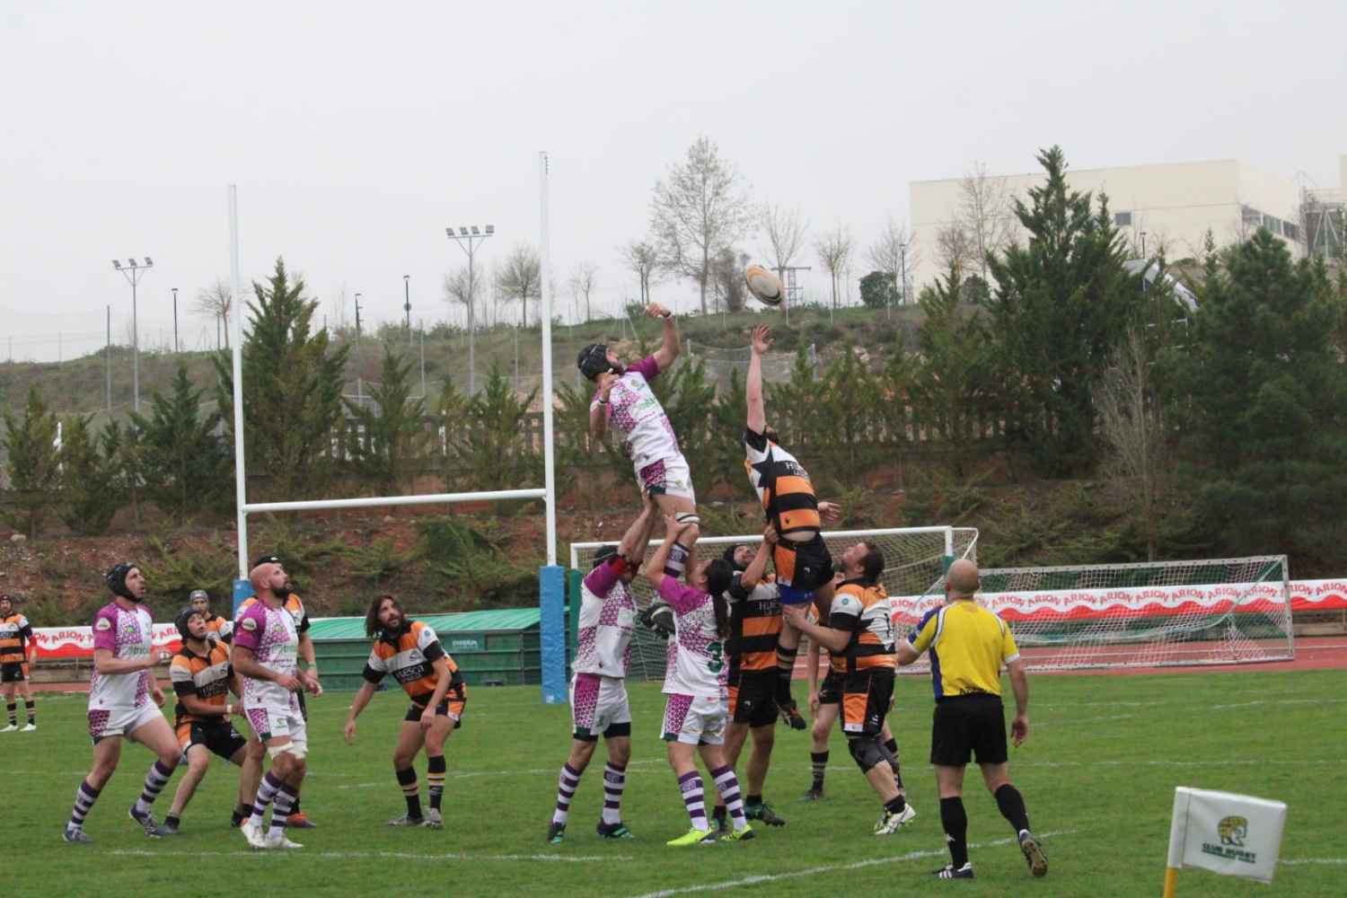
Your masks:
<instances>
[{"instance_id":1,"label":"green grass rugby pitch with white line markings","mask_svg":"<svg viewBox=\"0 0 1347 898\"><path fill-rule=\"evenodd\" d=\"M657 738L663 699L653 684L632 688L636 734L624 816L637 840L605 843L594 835L602 780L601 767L591 766L572 805L567 843L544 844L570 718L564 705L541 705L536 687L474 688L465 726L447 745L446 828L388 829L384 823L403 810L389 758L407 703L400 693L380 693L361 718L356 745L346 746L341 724L350 695L329 693L310 703L313 773L303 790L304 808L321 828L300 833L306 848L283 856L251 855L242 836L228 828L237 778L222 762L187 808L183 835L147 840L127 819L150 763L137 746L125 747L121 769L89 817L97 844L63 844L59 832L90 759L85 704L77 696L44 696L36 734L0 736L11 823L4 870L15 895L162 895L183 889L224 895L268 882L277 894L300 895L423 889L455 895L643 895L754 875L776 879L733 891L1145 895L1160 891L1173 788L1191 785L1286 801L1282 858L1338 862L1282 866L1272 890L1184 871L1184 898L1342 895L1347 850L1336 836L1347 806L1343 684L1335 670L1034 677L1033 731L1010 763L1034 829L1045 833L1051 872L1043 880L1029 876L1018 850L1006 841L1009 825L973 773L966 805L978 879L964 883L929 876L946 856L925 763L931 701L924 679L900 680L893 716L919 810L908 829L882 839L870 835L878 804L835 732L827 800L799 802L808 785L807 735L779 730L766 797L789 824L764 829L752 843L696 850L664 847L665 839L686 831L687 817ZM602 749L597 763L601 755ZM423 761L418 773L424 781ZM176 778L160 798L160 816L174 788ZM846 870L861 863L866 866ZM251 886L240 885L242 876Z\"/></svg>"}]
</instances>

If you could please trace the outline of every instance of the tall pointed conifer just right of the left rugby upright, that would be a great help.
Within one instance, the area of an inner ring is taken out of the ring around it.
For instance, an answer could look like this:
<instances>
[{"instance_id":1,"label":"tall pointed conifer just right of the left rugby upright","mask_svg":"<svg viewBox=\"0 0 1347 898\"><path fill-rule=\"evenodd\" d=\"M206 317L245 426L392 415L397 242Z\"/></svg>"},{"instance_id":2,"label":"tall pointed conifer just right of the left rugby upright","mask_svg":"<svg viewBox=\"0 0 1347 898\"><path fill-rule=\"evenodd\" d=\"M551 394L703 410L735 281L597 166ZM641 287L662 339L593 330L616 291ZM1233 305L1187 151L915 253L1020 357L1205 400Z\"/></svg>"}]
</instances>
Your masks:
<instances>
[{"instance_id":1,"label":"tall pointed conifer just right of the left rugby upright","mask_svg":"<svg viewBox=\"0 0 1347 898\"><path fill-rule=\"evenodd\" d=\"M313 333L318 302L283 258L265 284L253 283L251 327L242 347L244 436L248 466L271 477L272 493L294 499L318 490L333 474L331 440L342 423L342 378L349 347L329 331ZM240 310L241 311L241 310ZM233 368L216 357L216 394L233 439Z\"/></svg>"}]
</instances>

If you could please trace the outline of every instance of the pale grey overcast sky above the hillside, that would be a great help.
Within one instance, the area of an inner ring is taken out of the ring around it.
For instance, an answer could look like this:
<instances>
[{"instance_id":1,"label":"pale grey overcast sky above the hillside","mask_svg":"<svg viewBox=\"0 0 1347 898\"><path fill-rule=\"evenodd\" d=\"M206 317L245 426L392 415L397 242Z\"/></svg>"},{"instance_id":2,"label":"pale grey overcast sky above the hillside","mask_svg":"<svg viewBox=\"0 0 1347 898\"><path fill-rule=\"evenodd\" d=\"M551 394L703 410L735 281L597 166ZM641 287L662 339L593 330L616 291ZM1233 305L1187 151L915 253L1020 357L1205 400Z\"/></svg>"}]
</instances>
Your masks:
<instances>
[{"instance_id":1,"label":"pale grey overcast sky above the hillside","mask_svg":"<svg viewBox=\"0 0 1347 898\"><path fill-rule=\"evenodd\" d=\"M152 256L141 342L214 327L238 184L245 280L276 256L330 320L449 312L446 225L496 225L488 267L539 238L552 267L636 292L618 244L699 135L758 199L863 246L908 182L1034 167L1241 159L1335 187L1347 152L1347 4L31 3L0 5L0 359L54 359L131 318L113 257ZM746 241L750 252L760 241ZM754 252L754 254L758 254ZM811 253L812 254L812 253ZM816 264L815 260L810 260ZM810 264L810 263L806 263ZM820 279L822 280L822 279ZM688 310L690 284L656 298ZM349 312L348 312L349 314ZM454 312L457 315L457 311Z\"/></svg>"}]
</instances>

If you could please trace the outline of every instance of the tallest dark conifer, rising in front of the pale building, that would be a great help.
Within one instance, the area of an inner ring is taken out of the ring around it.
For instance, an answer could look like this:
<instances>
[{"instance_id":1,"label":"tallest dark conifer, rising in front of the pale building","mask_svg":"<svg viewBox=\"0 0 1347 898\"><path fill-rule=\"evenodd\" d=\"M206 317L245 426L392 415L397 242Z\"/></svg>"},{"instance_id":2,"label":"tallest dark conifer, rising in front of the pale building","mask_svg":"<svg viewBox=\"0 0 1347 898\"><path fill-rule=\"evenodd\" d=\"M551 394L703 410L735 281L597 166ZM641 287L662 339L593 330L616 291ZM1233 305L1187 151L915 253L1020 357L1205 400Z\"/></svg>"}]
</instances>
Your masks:
<instances>
[{"instance_id":1,"label":"tallest dark conifer, rising in front of the pale building","mask_svg":"<svg viewBox=\"0 0 1347 898\"><path fill-rule=\"evenodd\" d=\"M1013 448L1041 474L1088 470L1096 456L1092 392L1141 289L1123 269L1123 241L1109 201L1067 187L1060 148L1039 155L1047 172L1014 213L1029 233L990 260L997 285L987 300Z\"/></svg>"}]
</instances>

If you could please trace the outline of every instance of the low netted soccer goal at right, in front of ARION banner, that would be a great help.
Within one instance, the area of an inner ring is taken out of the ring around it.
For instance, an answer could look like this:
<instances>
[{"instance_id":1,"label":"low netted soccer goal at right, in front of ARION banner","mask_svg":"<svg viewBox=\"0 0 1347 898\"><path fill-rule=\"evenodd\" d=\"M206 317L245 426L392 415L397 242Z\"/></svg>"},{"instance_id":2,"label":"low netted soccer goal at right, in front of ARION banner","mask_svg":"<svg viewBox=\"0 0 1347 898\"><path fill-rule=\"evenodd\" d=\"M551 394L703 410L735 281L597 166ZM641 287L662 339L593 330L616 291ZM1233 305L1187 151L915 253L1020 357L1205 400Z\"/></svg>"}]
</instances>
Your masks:
<instances>
[{"instance_id":1,"label":"low netted soccer goal at right, in front of ARION banner","mask_svg":"<svg viewBox=\"0 0 1347 898\"><path fill-rule=\"evenodd\" d=\"M1030 669L1284 661L1286 556L982 571Z\"/></svg>"}]
</instances>

